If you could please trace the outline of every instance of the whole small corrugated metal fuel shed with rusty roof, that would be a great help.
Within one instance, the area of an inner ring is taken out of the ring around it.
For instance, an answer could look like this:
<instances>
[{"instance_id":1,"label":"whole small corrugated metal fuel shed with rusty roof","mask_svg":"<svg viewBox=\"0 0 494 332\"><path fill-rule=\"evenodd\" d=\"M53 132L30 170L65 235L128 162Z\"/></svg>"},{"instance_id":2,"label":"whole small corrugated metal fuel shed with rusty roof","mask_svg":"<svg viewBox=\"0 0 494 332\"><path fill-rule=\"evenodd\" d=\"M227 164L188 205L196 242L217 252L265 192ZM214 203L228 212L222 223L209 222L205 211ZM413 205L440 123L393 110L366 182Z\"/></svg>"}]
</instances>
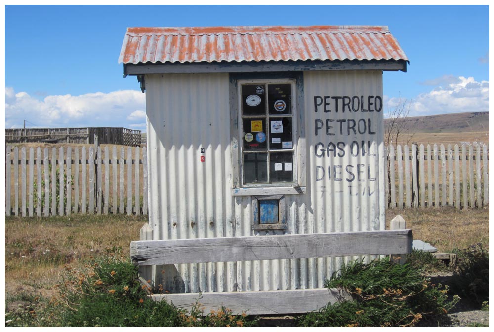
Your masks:
<instances>
[{"instance_id":1,"label":"whole small corrugated metal fuel shed with rusty roof","mask_svg":"<svg viewBox=\"0 0 494 332\"><path fill-rule=\"evenodd\" d=\"M154 240L385 229L382 75L408 64L388 27L128 28L119 62L146 92ZM315 289L352 258L170 264L152 282Z\"/></svg>"}]
</instances>

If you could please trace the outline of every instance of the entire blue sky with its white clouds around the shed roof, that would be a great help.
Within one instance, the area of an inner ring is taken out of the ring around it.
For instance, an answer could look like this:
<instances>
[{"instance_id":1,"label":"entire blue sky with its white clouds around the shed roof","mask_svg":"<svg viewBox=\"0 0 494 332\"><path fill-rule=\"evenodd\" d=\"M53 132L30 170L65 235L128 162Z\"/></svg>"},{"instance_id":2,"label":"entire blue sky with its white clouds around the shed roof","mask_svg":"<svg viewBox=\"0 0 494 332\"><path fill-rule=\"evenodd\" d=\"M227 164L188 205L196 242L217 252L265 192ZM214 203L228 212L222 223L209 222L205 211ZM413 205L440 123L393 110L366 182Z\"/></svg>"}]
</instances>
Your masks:
<instances>
[{"instance_id":1,"label":"entire blue sky with its white clouds around the shed roof","mask_svg":"<svg viewBox=\"0 0 494 332\"><path fill-rule=\"evenodd\" d=\"M487 2L485 2L487 3ZM407 73L384 72L388 109L489 111L489 6L5 6L5 127L145 130L145 99L118 64L127 27L386 25Z\"/></svg>"}]
</instances>

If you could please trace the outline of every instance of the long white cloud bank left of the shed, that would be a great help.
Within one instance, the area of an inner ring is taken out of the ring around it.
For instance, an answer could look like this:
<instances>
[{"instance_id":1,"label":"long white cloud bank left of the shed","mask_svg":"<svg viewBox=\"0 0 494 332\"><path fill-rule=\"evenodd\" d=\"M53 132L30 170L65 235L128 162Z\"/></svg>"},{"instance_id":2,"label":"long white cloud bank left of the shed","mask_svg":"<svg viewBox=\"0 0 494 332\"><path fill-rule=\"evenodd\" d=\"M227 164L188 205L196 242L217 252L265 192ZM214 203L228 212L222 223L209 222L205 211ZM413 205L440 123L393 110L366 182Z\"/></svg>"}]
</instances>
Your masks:
<instances>
[{"instance_id":1,"label":"long white cloud bank left of the shed","mask_svg":"<svg viewBox=\"0 0 494 332\"><path fill-rule=\"evenodd\" d=\"M37 127L130 127L146 118L145 95L140 91L55 95L42 100L5 87L5 128L23 120Z\"/></svg>"}]
</instances>

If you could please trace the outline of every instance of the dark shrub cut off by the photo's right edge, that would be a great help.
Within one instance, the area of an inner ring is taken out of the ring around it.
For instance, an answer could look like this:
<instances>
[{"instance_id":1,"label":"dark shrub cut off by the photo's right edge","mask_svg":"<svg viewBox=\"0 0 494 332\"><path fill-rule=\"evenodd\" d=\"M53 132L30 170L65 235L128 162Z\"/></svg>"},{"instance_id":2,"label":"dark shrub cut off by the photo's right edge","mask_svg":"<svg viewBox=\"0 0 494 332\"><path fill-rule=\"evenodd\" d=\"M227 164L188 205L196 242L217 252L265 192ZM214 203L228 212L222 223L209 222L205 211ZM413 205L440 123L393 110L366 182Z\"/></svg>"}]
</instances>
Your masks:
<instances>
[{"instance_id":1,"label":"dark shrub cut off by the photo's right edge","mask_svg":"<svg viewBox=\"0 0 494 332\"><path fill-rule=\"evenodd\" d=\"M481 308L489 301L489 252L480 243L455 252L452 292Z\"/></svg>"}]
</instances>

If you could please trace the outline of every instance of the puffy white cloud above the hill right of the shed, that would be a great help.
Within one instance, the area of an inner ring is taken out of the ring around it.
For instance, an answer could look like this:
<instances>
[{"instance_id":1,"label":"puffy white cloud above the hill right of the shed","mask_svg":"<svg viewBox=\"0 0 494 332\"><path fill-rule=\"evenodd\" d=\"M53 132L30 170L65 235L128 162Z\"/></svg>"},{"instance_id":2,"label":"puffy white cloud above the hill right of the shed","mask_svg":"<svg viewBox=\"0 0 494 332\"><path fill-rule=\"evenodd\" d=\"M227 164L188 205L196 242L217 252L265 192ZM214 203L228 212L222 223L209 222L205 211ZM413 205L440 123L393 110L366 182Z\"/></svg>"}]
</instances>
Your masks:
<instances>
[{"instance_id":1,"label":"puffy white cloud above the hill right of the shed","mask_svg":"<svg viewBox=\"0 0 494 332\"><path fill-rule=\"evenodd\" d=\"M427 82L441 84L428 93L411 100L409 116L489 111L489 82L477 82L473 77L443 76ZM404 100L402 99L403 103ZM400 98L387 100L388 110L400 104Z\"/></svg>"}]
</instances>

